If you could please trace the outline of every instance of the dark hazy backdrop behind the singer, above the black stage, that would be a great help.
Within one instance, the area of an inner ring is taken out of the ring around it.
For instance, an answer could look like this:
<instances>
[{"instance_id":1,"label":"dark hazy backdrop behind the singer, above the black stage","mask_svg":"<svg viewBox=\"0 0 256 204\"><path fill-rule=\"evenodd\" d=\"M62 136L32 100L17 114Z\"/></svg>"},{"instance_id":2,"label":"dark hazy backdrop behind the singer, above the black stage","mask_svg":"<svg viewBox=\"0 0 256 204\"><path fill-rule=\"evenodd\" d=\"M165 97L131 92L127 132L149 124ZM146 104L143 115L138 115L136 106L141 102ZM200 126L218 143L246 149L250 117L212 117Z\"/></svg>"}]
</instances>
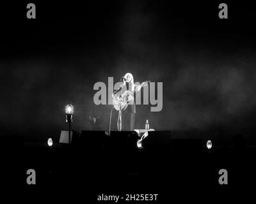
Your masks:
<instances>
[{"instance_id":1,"label":"dark hazy backdrop behind the singer, above the black stage","mask_svg":"<svg viewBox=\"0 0 256 204\"><path fill-rule=\"evenodd\" d=\"M36 19L26 18L28 3ZM108 130L112 106L93 104L93 85L131 72L135 82L163 82L163 110L137 106L136 128L148 119L156 130L254 142L256 14L253 4L225 1L228 19L220 19L220 3L1 3L1 133L58 138L67 103L77 131L90 128L89 115Z\"/></svg>"}]
</instances>

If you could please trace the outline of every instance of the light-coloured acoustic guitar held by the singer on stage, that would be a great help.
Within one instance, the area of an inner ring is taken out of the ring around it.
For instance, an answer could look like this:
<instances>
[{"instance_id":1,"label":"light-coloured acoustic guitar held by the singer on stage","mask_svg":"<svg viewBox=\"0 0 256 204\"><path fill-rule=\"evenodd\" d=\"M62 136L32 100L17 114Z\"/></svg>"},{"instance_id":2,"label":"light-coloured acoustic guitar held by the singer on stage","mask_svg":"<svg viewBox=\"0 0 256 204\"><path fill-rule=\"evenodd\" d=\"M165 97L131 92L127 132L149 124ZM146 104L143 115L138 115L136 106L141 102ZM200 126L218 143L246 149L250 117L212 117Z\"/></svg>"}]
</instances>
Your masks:
<instances>
[{"instance_id":1,"label":"light-coloured acoustic guitar held by the singer on stage","mask_svg":"<svg viewBox=\"0 0 256 204\"><path fill-rule=\"evenodd\" d=\"M139 85L140 87L143 87L145 85L147 85L148 81L143 82L141 85ZM129 103L132 103L134 101L134 92L136 91L136 89L134 91L125 91L124 93L120 94L120 96L117 96L116 94L113 95L113 105L115 110L125 110L127 108L127 106L129 105Z\"/></svg>"}]
</instances>

